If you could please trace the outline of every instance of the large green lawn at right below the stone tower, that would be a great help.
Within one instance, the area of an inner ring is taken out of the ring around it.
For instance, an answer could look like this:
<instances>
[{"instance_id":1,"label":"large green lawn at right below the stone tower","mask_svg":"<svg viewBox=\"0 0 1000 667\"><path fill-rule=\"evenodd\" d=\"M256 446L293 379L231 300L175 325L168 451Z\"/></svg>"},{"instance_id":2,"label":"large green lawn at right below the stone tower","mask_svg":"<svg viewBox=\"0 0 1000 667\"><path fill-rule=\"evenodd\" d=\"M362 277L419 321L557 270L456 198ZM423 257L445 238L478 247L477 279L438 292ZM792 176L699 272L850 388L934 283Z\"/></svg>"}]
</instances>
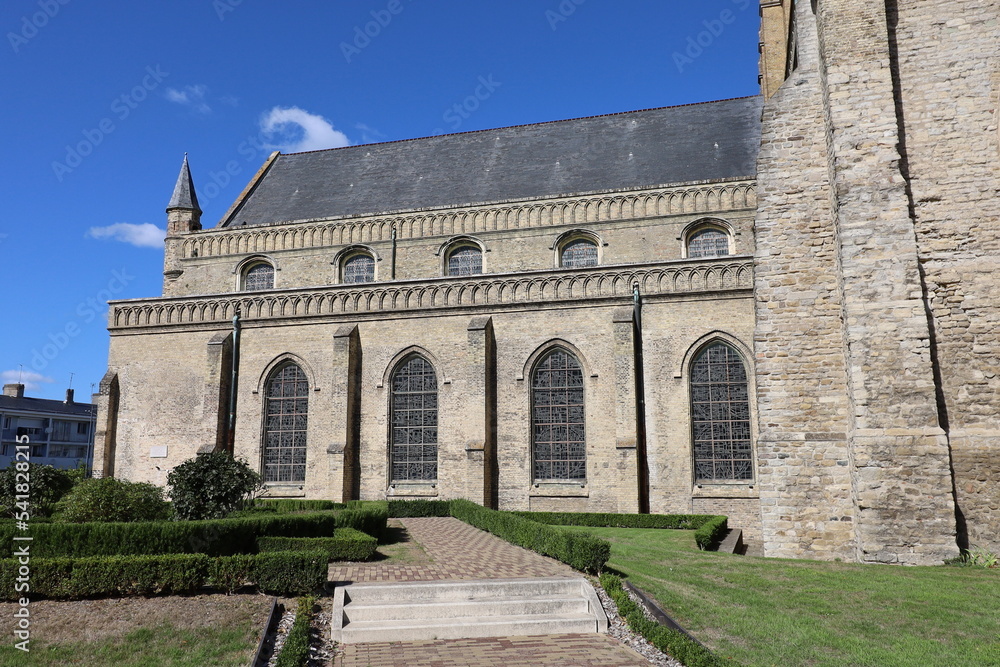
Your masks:
<instances>
[{"instance_id":1,"label":"large green lawn at right below the stone tower","mask_svg":"<svg viewBox=\"0 0 1000 667\"><path fill-rule=\"evenodd\" d=\"M745 665L1000 665L1000 571L698 551L690 531L565 528L720 657Z\"/></svg>"}]
</instances>

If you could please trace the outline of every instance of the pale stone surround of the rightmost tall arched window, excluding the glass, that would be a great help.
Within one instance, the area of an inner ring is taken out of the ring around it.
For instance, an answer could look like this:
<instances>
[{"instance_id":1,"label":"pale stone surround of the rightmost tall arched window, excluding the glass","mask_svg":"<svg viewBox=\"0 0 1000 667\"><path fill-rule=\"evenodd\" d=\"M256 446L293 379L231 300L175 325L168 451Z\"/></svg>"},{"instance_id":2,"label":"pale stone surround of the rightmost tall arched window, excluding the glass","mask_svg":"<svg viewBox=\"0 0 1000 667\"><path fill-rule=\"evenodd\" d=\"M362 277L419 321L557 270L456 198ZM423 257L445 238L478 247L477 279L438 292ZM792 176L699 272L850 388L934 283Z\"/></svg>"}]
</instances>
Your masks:
<instances>
[{"instance_id":1,"label":"pale stone surround of the rightmost tall arched window, excluding the glass","mask_svg":"<svg viewBox=\"0 0 1000 667\"><path fill-rule=\"evenodd\" d=\"M753 472L750 479L708 480L698 479L696 475L694 465L694 420L692 419L691 414L691 368L694 360L698 358L701 352L715 343L723 343L735 350L737 355L739 355L742 360L743 367L746 370L747 396L750 411L750 466L751 471ZM691 466L691 484L694 489L694 495L696 496L699 494L699 490L705 487L708 487L708 489L730 488L733 491L737 491L737 488L734 487L738 487L741 489L749 489L751 490L751 493L756 493L756 491L752 490L755 488L758 479L757 438L759 437L759 430L757 424L757 382L753 359L754 357L751 348L740 338L729 332L716 330L705 334L694 341L685 351L680 366L675 369L674 379L681 380L684 385L682 400L684 404L684 415L687 421L687 428L685 430L687 434L687 460L688 464ZM711 493L708 489L706 489L706 492Z\"/></svg>"}]
</instances>

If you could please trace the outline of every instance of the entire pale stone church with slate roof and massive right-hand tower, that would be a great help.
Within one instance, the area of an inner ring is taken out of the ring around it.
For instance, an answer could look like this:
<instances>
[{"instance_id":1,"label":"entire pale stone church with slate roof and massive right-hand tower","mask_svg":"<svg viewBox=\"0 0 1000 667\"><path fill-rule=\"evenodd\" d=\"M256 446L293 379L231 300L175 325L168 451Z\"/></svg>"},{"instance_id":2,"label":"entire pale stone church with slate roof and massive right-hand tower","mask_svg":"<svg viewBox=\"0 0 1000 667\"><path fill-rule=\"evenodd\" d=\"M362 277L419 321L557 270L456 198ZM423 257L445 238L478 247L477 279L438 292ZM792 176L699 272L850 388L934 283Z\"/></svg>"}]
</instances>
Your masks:
<instances>
[{"instance_id":1,"label":"entire pale stone church with slate roof and massive right-hand tower","mask_svg":"<svg viewBox=\"0 0 1000 667\"><path fill-rule=\"evenodd\" d=\"M1000 8L939 5L762 0L760 96L275 153L208 229L185 158L95 471L996 549Z\"/></svg>"}]
</instances>

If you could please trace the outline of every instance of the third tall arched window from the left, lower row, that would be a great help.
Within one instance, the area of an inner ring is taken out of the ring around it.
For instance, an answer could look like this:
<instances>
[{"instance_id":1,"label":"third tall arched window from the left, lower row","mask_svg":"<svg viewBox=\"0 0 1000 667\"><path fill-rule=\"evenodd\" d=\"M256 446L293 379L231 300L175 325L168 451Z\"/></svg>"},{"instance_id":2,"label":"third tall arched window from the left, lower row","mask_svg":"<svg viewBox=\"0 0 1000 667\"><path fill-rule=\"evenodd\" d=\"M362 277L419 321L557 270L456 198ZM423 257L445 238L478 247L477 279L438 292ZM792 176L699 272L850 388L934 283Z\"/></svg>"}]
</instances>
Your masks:
<instances>
[{"instance_id":1,"label":"third tall arched window from the left, lower row","mask_svg":"<svg viewBox=\"0 0 1000 667\"><path fill-rule=\"evenodd\" d=\"M557 348L531 376L531 441L535 481L587 478L583 371L576 357Z\"/></svg>"}]
</instances>

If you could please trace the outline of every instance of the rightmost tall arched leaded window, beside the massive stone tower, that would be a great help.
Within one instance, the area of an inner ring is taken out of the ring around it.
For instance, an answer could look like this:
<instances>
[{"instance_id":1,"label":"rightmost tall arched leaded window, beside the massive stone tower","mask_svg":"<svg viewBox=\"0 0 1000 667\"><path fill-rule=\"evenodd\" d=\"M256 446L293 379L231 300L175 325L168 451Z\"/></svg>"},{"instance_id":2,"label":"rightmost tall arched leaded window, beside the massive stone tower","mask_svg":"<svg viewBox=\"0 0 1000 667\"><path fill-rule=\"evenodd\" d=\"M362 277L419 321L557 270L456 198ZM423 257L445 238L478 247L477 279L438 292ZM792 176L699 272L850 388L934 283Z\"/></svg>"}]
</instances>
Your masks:
<instances>
[{"instance_id":1,"label":"rightmost tall arched leaded window, beside the massive stone tower","mask_svg":"<svg viewBox=\"0 0 1000 667\"><path fill-rule=\"evenodd\" d=\"M697 480L753 479L746 367L725 343L691 364L691 428Z\"/></svg>"}]
</instances>

